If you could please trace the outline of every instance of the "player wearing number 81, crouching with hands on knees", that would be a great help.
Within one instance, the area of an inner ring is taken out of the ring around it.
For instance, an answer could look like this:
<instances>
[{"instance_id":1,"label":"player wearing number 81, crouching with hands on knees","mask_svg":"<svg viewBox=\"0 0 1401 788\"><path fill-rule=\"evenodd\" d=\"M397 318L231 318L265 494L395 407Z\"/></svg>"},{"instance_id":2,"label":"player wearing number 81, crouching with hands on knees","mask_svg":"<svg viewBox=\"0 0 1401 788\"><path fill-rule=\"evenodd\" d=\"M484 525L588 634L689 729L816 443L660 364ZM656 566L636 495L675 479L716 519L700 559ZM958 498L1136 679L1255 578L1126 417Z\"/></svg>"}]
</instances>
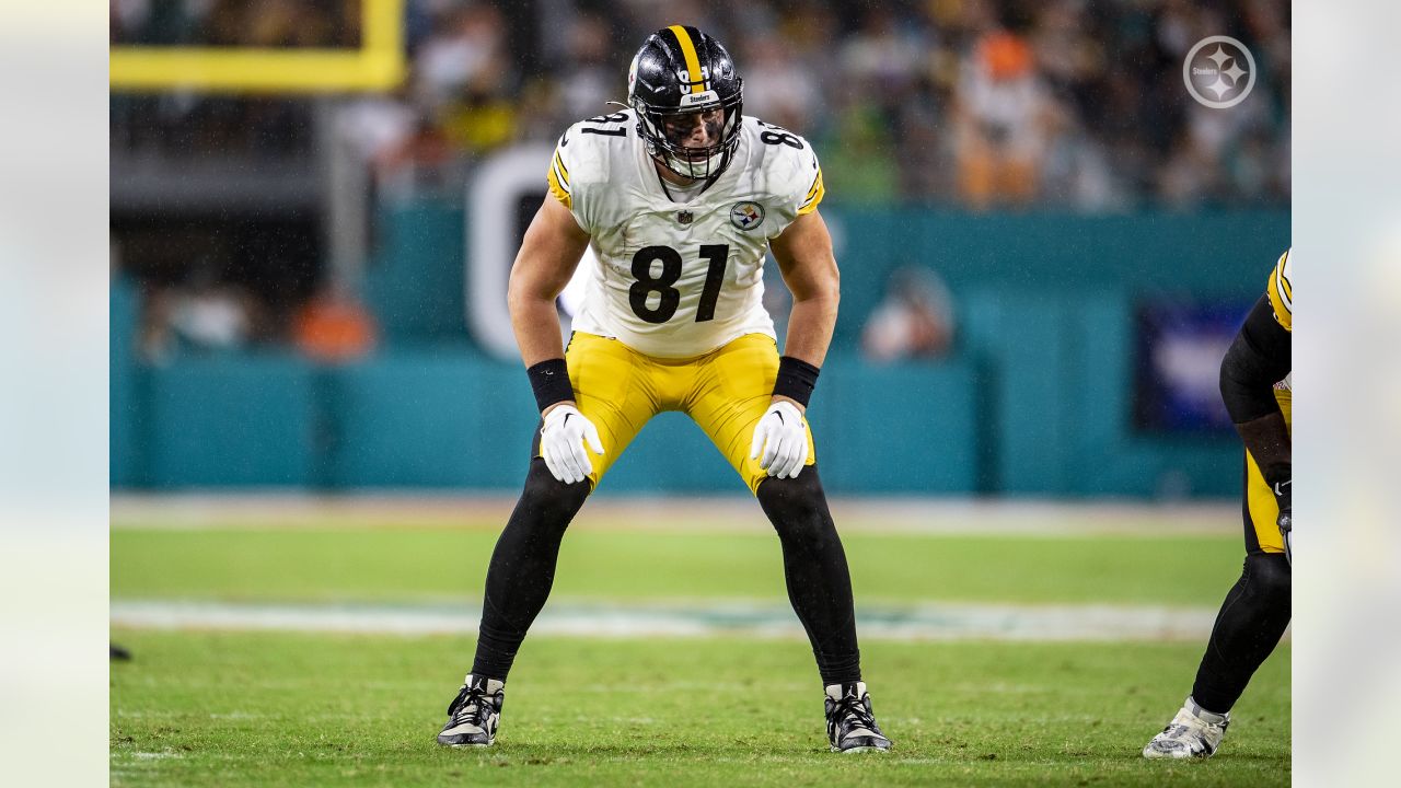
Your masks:
<instances>
[{"instance_id":1,"label":"player wearing number 81, crouching with hands on knees","mask_svg":"<svg viewBox=\"0 0 1401 788\"><path fill-rule=\"evenodd\" d=\"M511 269L511 325L541 411L516 510L492 554L472 672L443 745L495 742L506 676L549 595L584 498L647 421L681 411L778 531L789 599L817 656L832 750L887 750L871 715L846 555L804 419L836 320L838 271L803 137L743 114L726 49L693 27L650 35L628 107L570 126ZM555 299L590 266L563 348ZM772 251L793 293L785 355L764 310Z\"/></svg>"}]
</instances>

